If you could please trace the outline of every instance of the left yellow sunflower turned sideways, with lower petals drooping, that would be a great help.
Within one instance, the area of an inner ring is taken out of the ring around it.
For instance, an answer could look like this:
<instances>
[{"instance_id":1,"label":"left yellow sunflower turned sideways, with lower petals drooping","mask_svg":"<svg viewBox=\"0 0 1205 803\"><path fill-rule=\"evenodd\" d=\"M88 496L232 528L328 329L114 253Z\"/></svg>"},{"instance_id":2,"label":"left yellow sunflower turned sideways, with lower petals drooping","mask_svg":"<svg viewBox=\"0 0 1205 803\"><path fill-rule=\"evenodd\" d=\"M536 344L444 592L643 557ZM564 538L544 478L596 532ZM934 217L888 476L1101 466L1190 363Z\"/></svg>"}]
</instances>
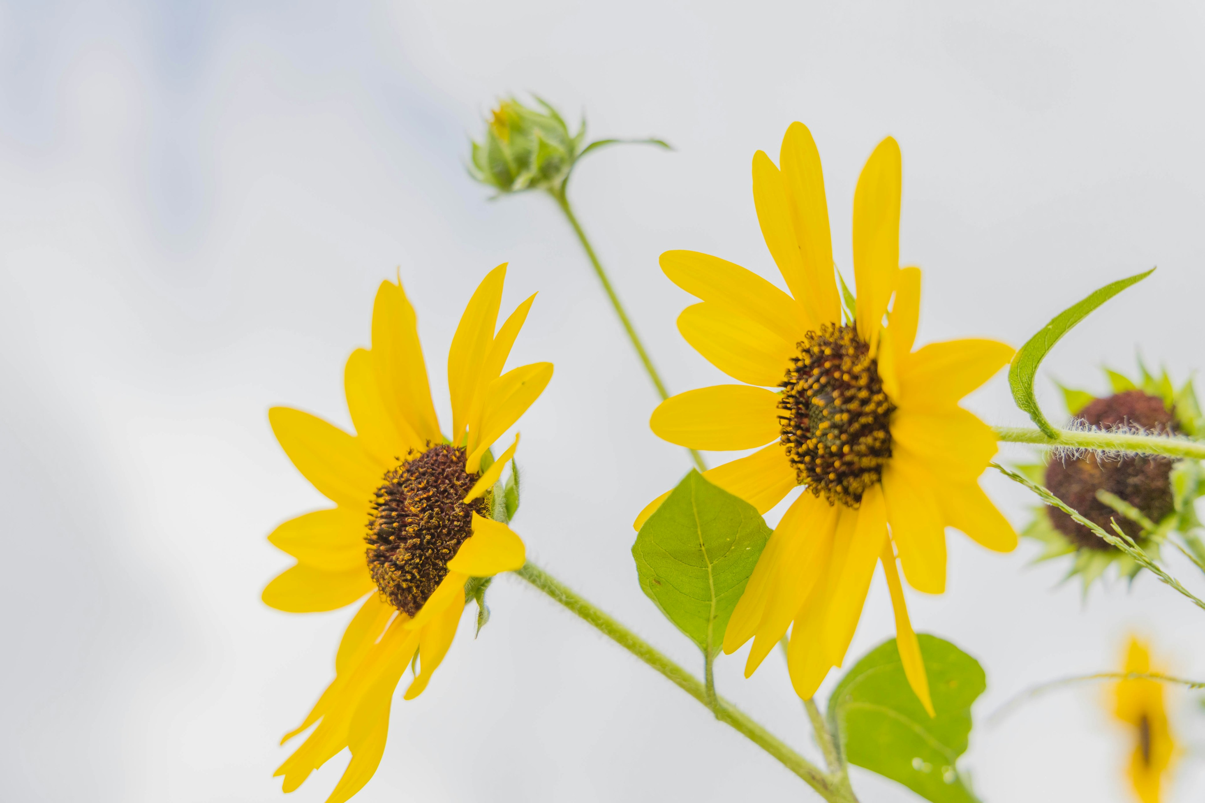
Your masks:
<instances>
[{"instance_id":1,"label":"left yellow sunflower turned sideways, with lower petals drooping","mask_svg":"<svg viewBox=\"0 0 1205 803\"><path fill-rule=\"evenodd\" d=\"M347 360L345 386L355 435L287 407L269 413L298 471L334 508L306 513L268 539L296 559L264 589L264 602L294 613L334 610L364 600L335 657L335 679L300 727L317 727L276 770L292 792L349 748L351 763L328 798L341 803L381 762L394 689L418 661L405 698L421 695L439 667L471 577L523 566L523 542L495 521L494 486L515 443L489 461L489 447L540 396L551 362L506 373L502 366L535 300L498 332L506 266L486 276L448 350L449 437L440 432L418 344L415 309L401 282L382 282L372 307L372 348ZM484 468L483 468L484 467Z\"/></svg>"}]
</instances>

